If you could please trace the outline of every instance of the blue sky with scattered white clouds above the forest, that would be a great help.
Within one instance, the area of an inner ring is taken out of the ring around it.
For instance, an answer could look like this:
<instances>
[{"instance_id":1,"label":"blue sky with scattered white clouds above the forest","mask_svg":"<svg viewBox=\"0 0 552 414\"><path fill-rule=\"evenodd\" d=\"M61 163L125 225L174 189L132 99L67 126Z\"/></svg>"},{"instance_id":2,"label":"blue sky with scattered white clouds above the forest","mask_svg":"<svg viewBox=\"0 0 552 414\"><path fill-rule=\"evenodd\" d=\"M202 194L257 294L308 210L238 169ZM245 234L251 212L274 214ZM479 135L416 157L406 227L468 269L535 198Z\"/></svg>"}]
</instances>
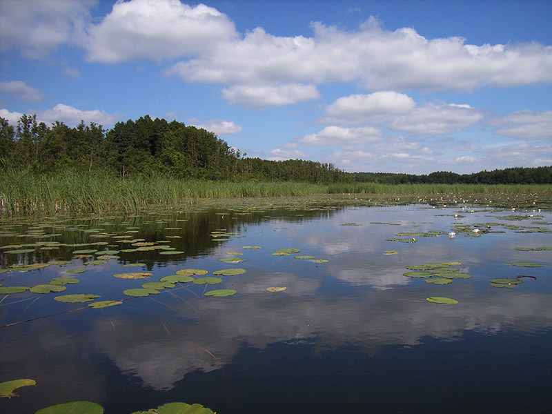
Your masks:
<instances>
[{"instance_id":1,"label":"blue sky with scattered white clouds above the forest","mask_svg":"<svg viewBox=\"0 0 552 414\"><path fill-rule=\"evenodd\" d=\"M552 166L552 0L0 0L0 117L348 172Z\"/></svg>"}]
</instances>

